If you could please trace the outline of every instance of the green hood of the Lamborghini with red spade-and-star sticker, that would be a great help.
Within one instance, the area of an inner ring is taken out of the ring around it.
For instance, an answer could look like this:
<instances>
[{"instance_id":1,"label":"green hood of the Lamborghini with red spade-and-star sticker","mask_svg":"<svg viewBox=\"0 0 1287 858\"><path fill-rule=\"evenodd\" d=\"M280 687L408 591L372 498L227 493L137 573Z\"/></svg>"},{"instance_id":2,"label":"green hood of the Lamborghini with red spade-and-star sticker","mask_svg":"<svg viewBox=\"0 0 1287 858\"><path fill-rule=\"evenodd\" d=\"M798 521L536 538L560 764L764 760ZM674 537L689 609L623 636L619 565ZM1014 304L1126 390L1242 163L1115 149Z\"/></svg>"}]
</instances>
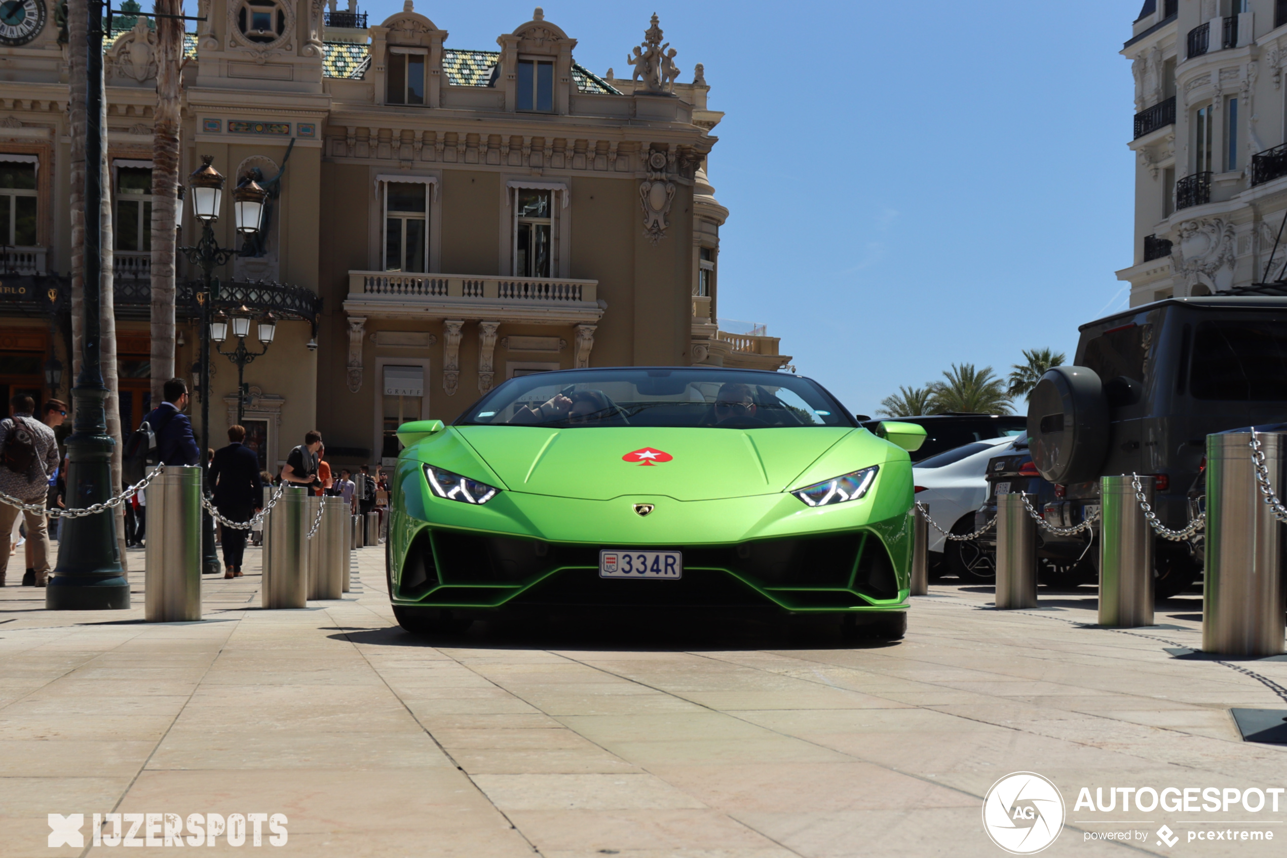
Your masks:
<instances>
[{"instance_id":1,"label":"green hood of the Lamborghini with red spade-and-star sticker","mask_svg":"<svg viewBox=\"0 0 1287 858\"><path fill-rule=\"evenodd\" d=\"M714 500L772 494L790 488L795 477L847 435L862 435L879 448L889 446L864 430L829 426L763 430L458 426L453 432L510 491L587 500L622 495ZM427 454L429 450L426 461ZM878 458L884 461L883 449ZM855 463L853 468L864 464L867 463Z\"/></svg>"}]
</instances>

